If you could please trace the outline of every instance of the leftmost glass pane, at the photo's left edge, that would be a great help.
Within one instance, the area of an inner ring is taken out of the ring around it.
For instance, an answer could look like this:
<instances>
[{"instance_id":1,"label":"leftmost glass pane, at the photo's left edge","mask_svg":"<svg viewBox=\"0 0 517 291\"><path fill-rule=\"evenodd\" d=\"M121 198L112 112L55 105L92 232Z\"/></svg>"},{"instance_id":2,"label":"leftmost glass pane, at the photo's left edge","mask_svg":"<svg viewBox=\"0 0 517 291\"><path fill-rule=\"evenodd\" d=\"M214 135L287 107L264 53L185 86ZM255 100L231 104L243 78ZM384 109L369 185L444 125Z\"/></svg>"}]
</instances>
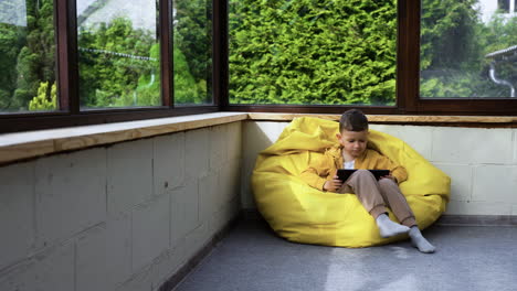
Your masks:
<instances>
[{"instance_id":1,"label":"leftmost glass pane, at the photo's left edge","mask_svg":"<svg viewBox=\"0 0 517 291\"><path fill-rule=\"evenodd\" d=\"M0 112L57 109L53 2L0 1Z\"/></svg>"}]
</instances>

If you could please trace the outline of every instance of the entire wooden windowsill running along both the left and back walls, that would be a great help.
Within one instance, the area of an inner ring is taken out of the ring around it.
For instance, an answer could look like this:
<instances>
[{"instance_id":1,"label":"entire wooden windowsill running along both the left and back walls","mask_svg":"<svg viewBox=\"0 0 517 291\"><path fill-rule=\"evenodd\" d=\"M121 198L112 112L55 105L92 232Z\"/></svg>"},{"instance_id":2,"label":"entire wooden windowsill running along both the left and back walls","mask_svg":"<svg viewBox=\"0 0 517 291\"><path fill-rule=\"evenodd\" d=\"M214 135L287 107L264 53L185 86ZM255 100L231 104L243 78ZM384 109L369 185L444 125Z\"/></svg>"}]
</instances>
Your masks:
<instances>
[{"instance_id":1,"label":"entire wooden windowsill running along both the left and back walls","mask_svg":"<svg viewBox=\"0 0 517 291\"><path fill-rule=\"evenodd\" d=\"M340 115L215 112L0 134L0 164L241 120L291 121L296 117L339 120ZM372 123L517 127L517 117L368 115Z\"/></svg>"}]
</instances>

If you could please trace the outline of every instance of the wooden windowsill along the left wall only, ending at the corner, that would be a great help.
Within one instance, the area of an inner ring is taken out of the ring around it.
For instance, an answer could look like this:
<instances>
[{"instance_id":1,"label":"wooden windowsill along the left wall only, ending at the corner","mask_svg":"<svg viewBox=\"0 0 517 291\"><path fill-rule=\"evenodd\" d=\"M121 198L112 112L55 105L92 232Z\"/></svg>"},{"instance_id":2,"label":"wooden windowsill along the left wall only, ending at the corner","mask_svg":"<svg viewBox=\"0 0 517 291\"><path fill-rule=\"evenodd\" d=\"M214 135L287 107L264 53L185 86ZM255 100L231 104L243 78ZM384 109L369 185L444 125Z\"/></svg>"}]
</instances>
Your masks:
<instances>
[{"instance_id":1,"label":"wooden windowsill along the left wall only, ending at the corner","mask_svg":"<svg viewBox=\"0 0 517 291\"><path fill-rule=\"evenodd\" d=\"M246 118L245 112L217 112L0 134L0 164Z\"/></svg>"}]
</instances>

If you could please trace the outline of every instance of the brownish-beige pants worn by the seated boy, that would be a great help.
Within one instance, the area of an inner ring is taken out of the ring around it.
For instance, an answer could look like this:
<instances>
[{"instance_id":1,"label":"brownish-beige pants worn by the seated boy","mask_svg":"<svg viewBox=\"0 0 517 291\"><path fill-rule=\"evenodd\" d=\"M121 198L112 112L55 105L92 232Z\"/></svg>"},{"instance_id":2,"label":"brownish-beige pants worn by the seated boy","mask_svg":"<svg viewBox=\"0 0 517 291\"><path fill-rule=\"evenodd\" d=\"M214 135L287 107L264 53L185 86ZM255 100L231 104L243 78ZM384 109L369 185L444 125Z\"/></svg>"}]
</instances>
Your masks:
<instances>
[{"instance_id":1,"label":"brownish-beige pants worn by the seated boy","mask_svg":"<svg viewBox=\"0 0 517 291\"><path fill-rule=\"evenodd\" d=\"M414 214L400 192L399 185L390 179L377 181L370 171L357 170L338 192L356 194L373 218L387 213L386 206L388 206L400 224L408 227L416 225Z\"/></svg>"}]
</instances>

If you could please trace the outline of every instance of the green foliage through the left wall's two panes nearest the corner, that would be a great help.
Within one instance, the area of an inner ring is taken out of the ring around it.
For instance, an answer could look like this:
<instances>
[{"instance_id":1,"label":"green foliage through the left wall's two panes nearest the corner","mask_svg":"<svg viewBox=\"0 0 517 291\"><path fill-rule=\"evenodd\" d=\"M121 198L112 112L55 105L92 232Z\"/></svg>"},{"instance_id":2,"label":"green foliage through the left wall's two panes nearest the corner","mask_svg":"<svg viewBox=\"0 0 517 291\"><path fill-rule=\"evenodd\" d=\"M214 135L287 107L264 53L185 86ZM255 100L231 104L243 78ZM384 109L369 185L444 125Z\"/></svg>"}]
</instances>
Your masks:
<instances>
[{"instance_id":1,"label":"green foliage through the left wall's two panes nearest the corner","mask_svg":"<svg viewBox=\"0 0 517 291\"><path fill-rule=\"evenodd\" d=\"M210 103L211 21L207 21L207 11L211 10L202 0L179 1L176 8L175 103ZM78 34L83 107L161 105L159 45L151 32L134 29L130 20L118 18L97 28L82 28Z\"/></svg>"}]
</instances>

